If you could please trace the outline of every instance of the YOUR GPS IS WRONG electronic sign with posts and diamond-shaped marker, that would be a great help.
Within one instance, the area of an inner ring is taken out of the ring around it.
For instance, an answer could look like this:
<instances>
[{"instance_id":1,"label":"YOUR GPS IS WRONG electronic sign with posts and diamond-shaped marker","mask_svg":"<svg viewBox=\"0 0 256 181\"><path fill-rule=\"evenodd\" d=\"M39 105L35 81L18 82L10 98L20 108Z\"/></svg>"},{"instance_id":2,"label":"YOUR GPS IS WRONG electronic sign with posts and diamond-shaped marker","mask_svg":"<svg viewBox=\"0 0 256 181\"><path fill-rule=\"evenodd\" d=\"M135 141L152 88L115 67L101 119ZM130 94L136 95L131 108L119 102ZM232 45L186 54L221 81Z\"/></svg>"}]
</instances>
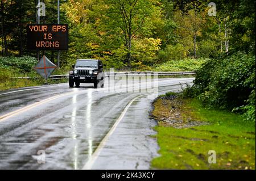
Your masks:
<instances>
[{"instance_id":1,"label":"YOUR GPS IS WRONG electronic sign with posts and diamond-shaped marker","mask_svg":"<svg viewBox=\"0 0 256 181\"><path fill-rule=\"evenodd\" d=\"M40 0L37 2L36 23L27 24L27 48L36 50L38 64L34 69L47 84L52 71L60 68L60 50L68 50L68 24L60 24L60 0L57 0L57 24L40 24L40 16L46 16L46 5ZM40 50L43 57L39 60ZM44 50L58 50L57 66L44 55Z\"/></svg>"}]
</instances>

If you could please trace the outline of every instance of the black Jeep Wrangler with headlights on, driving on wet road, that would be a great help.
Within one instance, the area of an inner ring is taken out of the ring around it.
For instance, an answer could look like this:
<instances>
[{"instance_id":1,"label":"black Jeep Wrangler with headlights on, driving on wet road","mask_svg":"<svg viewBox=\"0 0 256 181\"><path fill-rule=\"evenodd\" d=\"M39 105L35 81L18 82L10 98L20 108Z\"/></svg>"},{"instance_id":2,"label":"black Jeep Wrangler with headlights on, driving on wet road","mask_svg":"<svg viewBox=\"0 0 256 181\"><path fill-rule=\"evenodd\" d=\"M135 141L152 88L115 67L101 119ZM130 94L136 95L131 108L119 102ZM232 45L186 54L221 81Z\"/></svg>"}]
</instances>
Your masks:
<instances>
[{"instance_id":1,"label":"black Jeep Wrangler with headlights on, driving on wet road","mask_svg":"<svg viewBox=\"0 0 256 181\"><path fill-rule=\"evenodd\" d=\"M80 83L94 83L94 88L104 87L105 75L100 60L79 59L69 71L69 87L80 86Z\"/></svg>"}]
</instances>

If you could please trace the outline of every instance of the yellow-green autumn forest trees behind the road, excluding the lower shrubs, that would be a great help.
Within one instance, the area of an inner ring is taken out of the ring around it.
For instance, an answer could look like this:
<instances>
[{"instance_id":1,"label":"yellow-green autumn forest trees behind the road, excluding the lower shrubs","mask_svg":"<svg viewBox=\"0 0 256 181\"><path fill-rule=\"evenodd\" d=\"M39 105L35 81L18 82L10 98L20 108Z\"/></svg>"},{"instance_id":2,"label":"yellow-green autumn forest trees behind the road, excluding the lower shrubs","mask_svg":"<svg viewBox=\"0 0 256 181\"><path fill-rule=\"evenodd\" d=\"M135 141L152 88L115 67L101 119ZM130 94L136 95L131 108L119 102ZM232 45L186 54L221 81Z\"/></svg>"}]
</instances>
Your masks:
<instances>
[{"instance_id":1,"label":"yellow-green autumn forest trees behind the road, excluding the lower shrubs","mask_svg":"<svg viewBox=\"0 0 256 181\"><path fill-rule=\"evenodd\" d=\"M46 4L41 23L57 23L57 1ZM254 51L255 2L181 0L61 0L61 23L70 28L61 66L76 58L100 58L117 69L150 69L168 60L216 58ZM35 56L28 51L26 25L36 23L38 1L1 1L1 56ZM41 52L42 53L42 52ZM44 52L53 62L57 53Z\"/></svg>"}]
</instances>

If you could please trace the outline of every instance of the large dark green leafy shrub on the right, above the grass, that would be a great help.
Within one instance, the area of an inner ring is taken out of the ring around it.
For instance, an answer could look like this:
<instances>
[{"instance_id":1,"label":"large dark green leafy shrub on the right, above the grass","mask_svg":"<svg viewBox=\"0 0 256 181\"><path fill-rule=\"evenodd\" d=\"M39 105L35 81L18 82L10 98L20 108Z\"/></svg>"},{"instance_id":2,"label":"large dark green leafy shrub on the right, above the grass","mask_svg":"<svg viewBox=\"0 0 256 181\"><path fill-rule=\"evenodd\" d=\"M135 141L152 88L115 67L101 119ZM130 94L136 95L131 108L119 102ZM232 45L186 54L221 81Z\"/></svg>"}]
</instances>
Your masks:
<instances>
[{"instance_id":1,"label":"large dark green leafy shrub on the right, above the grass","mask_svg":"<svg viewBox=\"0 0 256 181\"><path fill-rule=\"evenodd\" d=\"M196 73L193 89L197 89L195 94L206 106L228 110L241 107L236 110L246 112L248 119L255 120L254 54L238 52L209 60Z\"/></svg>"}]
</instances>

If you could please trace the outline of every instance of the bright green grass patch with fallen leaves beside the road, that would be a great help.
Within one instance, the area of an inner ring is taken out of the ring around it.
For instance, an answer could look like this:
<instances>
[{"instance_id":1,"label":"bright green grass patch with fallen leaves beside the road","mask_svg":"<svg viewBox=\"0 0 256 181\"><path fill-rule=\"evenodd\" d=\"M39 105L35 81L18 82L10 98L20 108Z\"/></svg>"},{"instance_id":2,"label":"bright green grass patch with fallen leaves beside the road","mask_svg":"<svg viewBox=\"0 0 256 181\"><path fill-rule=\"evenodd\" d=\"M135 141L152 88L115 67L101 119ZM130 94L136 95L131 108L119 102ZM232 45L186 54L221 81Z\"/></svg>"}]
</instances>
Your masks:
<instances>
[{"instance_id":1,"label":"bright green grass patch with fallen leaves beside the road","mask_svg":"<svg viewBox=\"0 0 256 181\"><path fill-rule=\"evenodd\" d=\"M163 107L156 102L155 110L160 113ZM155 130L161 156L152 160L152 168L255 169L255 123L234 113L208 110L197 99L184 100L182 114L210 124L176 129L159 122ZM216 151L216 164L208 163L209 150Z\"/></svg>"}]
</instances>

